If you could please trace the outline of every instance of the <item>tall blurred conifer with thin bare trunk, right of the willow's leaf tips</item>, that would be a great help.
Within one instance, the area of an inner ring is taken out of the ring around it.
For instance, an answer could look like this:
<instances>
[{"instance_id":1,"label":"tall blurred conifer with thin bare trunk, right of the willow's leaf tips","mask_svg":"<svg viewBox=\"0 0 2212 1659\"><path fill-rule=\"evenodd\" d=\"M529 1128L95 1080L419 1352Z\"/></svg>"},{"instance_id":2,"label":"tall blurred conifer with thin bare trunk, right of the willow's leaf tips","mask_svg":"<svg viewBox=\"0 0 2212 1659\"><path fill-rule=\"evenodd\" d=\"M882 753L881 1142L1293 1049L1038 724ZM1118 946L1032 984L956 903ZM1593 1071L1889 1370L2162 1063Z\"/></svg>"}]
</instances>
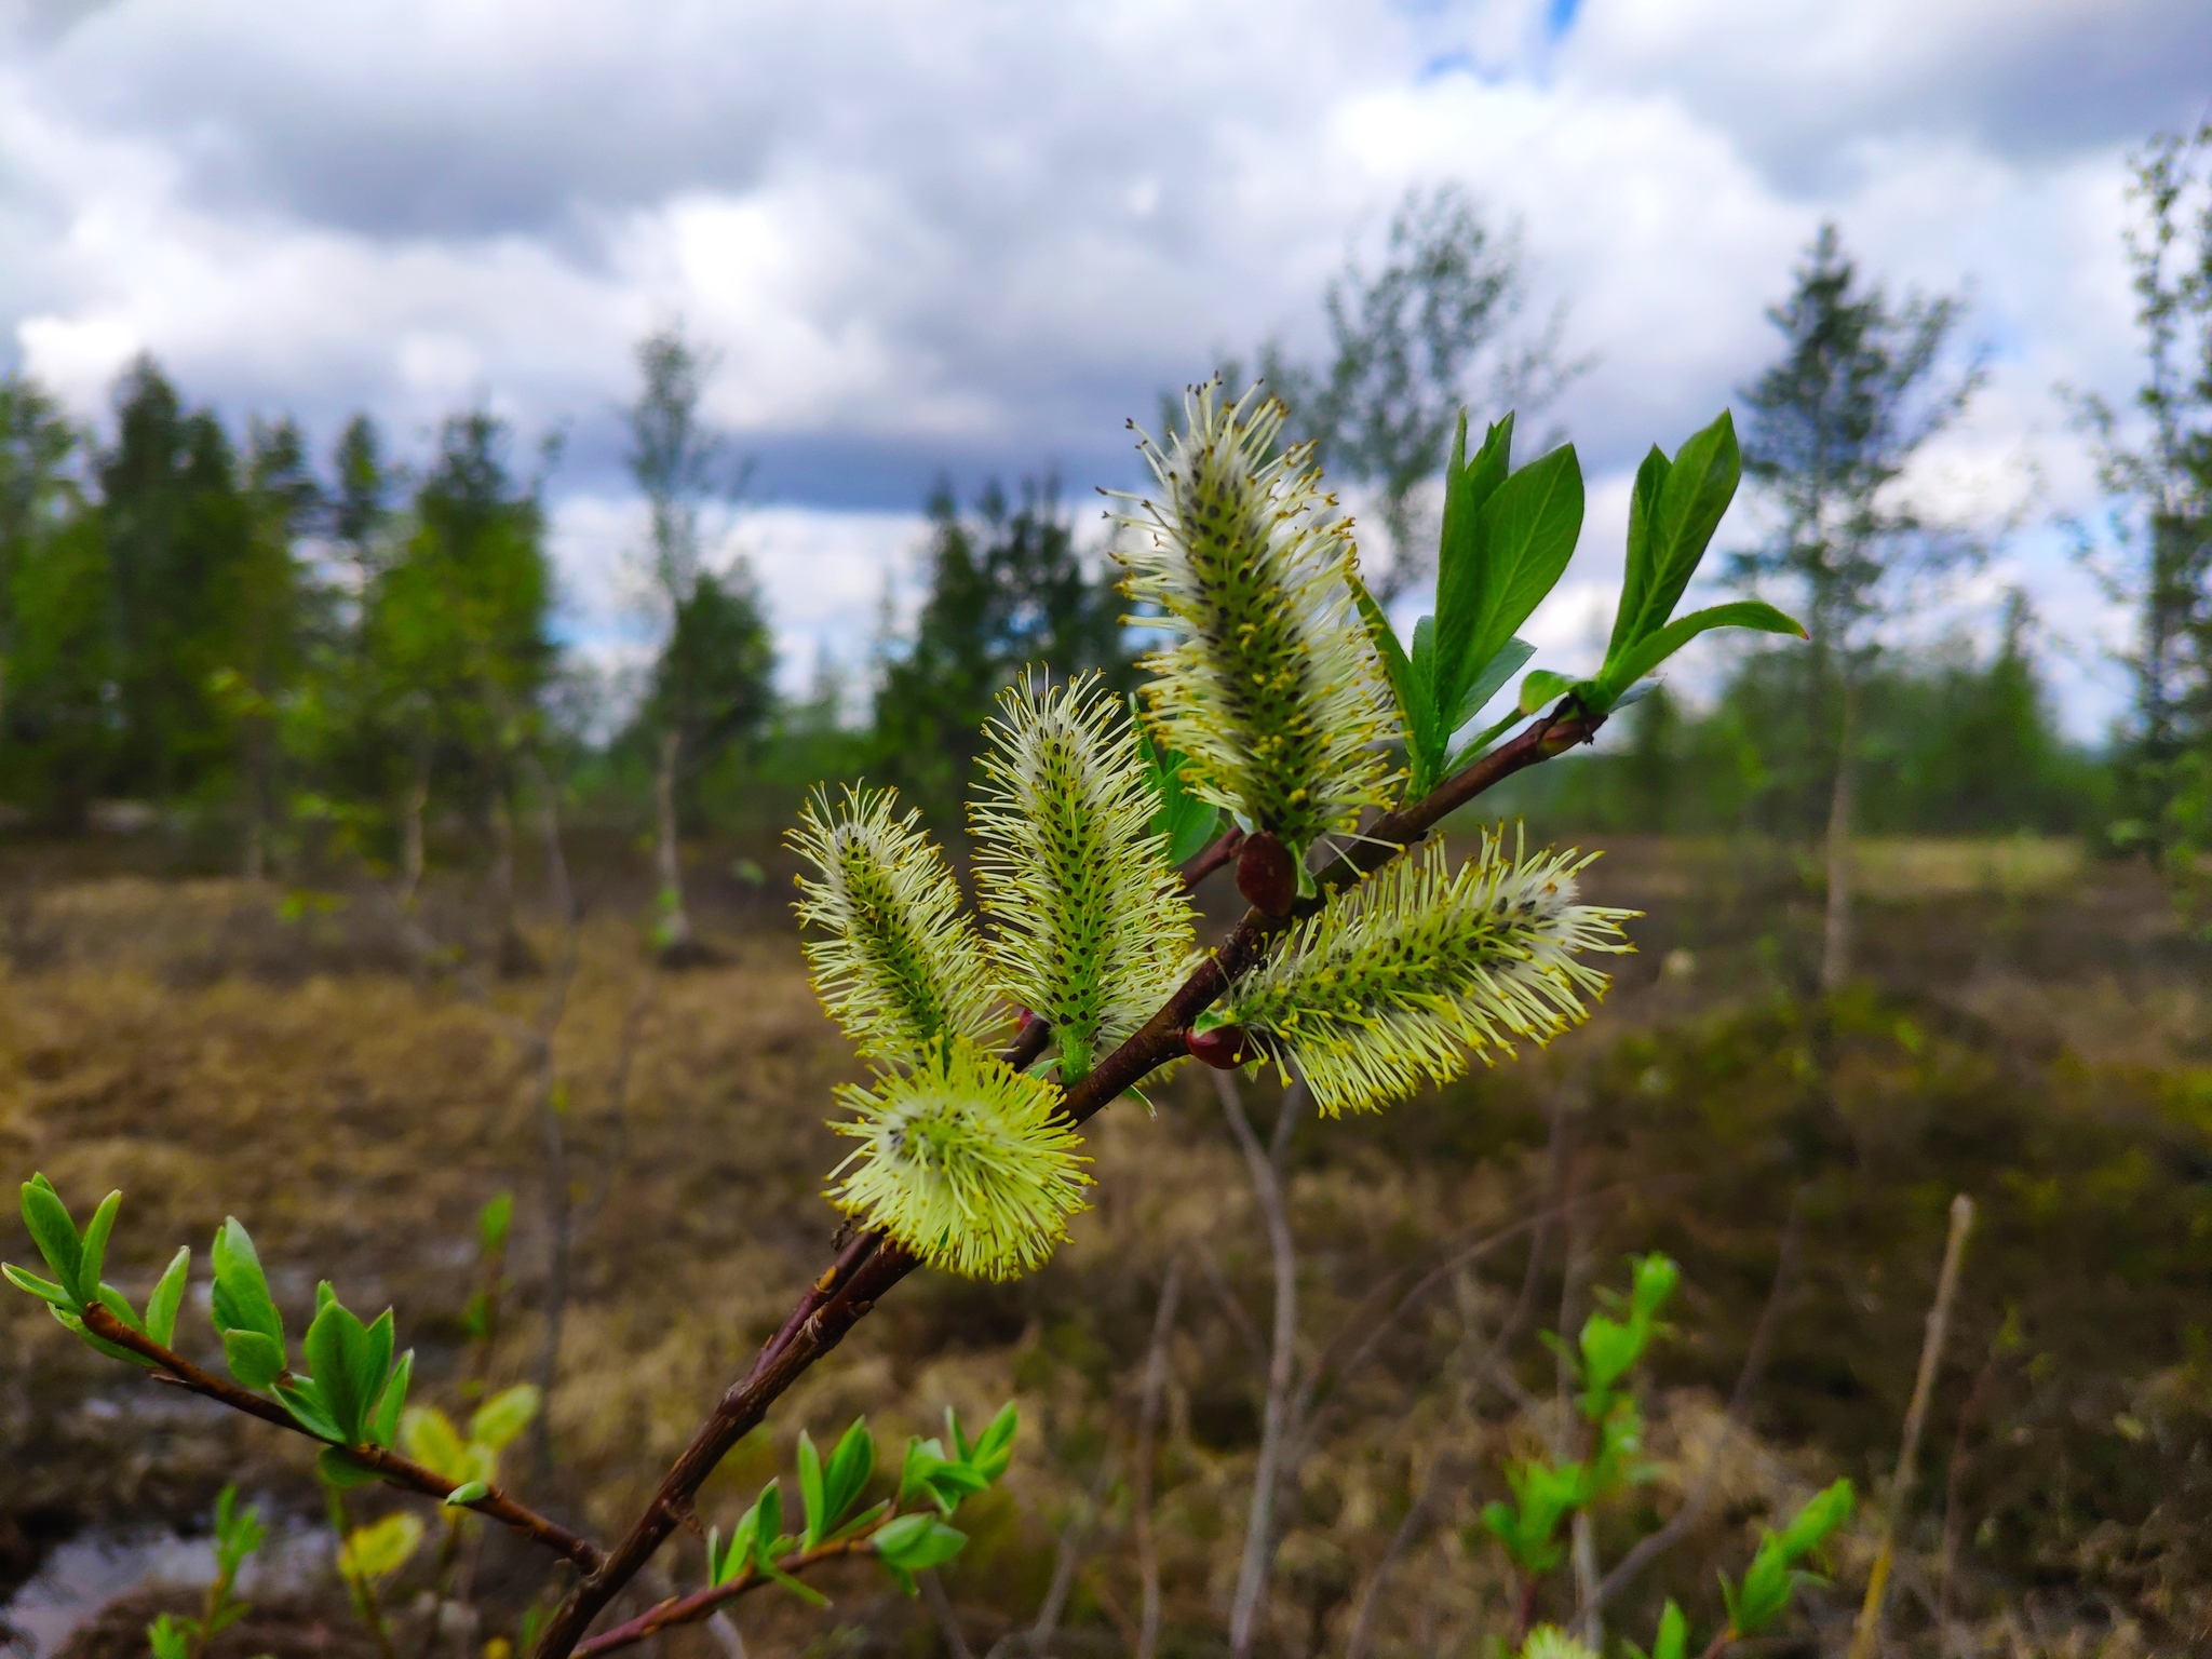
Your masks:
<instances>
[{"instance_id":1,"label":"tall blurred conifer with thin bare trunk, right of the willow's leaf tips","mask_svg":"<svg viewBox=\"0 0 2212 1659\"><path fill-rule=\"evenodd\" d=\"M1860 279L1836 226L1820 226L1790 299L1767 312L1783 354L1741 394L1750 407L1743 471L1776 509L1776 526L1734 557L1734 575L1796 588L1814 641L1805 699L1816 752L1827 757L1827 989L1851 962L1860 681L1907 577L1971 549L1902 484L1982 383L1978 363L1947 361L1962 316L1964 303L1949 296L1891 301Z\"/></svg>"}]
</instances>

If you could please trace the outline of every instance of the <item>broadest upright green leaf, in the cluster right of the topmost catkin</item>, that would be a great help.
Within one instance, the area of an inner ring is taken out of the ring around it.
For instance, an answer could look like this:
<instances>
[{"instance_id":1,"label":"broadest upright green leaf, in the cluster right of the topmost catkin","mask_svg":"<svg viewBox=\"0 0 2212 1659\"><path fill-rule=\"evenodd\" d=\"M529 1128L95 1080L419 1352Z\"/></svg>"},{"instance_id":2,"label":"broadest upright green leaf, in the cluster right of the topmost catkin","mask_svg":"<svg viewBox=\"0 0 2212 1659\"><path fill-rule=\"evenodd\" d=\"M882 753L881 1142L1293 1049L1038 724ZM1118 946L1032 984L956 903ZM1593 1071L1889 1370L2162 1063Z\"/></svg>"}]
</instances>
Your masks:
<instances>
[{"instance_id":1,"label":"broadest upright green leaf, in the cluster right of the topmost catkin","mask_svg":"<svg viewBox=\"0 0 2212 1659\"><path fill-rule=\"evenodd\" d=\"M1436 706L1458 710L1475 677L1557 586L1582 535L1573 445L1533 460L1475 513L1469 557L1438 575Z\"/></svg>"}]
</instances>

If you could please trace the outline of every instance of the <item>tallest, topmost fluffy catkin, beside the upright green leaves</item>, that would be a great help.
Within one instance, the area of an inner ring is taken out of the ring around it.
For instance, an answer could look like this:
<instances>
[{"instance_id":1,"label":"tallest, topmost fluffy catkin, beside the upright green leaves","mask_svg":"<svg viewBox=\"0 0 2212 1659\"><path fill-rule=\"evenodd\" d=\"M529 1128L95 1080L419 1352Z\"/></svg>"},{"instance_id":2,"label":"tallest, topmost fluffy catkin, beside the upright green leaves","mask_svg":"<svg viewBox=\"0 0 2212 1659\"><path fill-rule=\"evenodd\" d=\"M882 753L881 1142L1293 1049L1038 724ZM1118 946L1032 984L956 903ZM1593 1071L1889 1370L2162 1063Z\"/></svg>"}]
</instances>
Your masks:
<instances>
[{"instance_id":1,"label":"tallest, topmost fluffy catkin, beside the upright green leaves","mask_svg":"<svg viewBox=\"0 0 2212 1659\"><path fill-rule=\"evenodd\" d=\"M1352 599L1352 524L1312 447L1272 453L1281 427L1259 389L1190 392L1168 449L1144 438L1159 498L1133 498L1119 560L1170 639L1144 697L1190 790L1303 852L1391 803L1398 717Z\"/></svg>"}]
</instances>

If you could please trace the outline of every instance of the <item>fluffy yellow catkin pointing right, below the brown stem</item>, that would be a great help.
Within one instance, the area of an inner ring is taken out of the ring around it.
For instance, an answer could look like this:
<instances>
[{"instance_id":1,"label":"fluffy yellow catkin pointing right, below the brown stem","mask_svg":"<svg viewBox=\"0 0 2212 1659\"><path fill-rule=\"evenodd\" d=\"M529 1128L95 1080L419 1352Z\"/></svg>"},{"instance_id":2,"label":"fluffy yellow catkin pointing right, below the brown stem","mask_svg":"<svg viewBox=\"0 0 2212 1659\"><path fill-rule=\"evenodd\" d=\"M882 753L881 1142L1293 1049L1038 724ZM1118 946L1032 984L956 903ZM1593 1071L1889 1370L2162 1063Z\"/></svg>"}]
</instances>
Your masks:
<instances>
[{"instance_id":1,"label":"fluffy yellow catkin pointing right, below the brown stem","mask_svg":"<svg viewBox=\"0 0 2212 1659\"><path fill-rule=\"evenodd\" d=\"M1575 902L1588 863L1509 856L1493 834L1458 872L1438 845L1409 852L1292 929L1225 1015L1332 1117L1458 1077L1469 1051L1548 1042L1606 989L1577 953L1630 949L1619 922L1635 911Z\"/></svg>"}]
</instances>

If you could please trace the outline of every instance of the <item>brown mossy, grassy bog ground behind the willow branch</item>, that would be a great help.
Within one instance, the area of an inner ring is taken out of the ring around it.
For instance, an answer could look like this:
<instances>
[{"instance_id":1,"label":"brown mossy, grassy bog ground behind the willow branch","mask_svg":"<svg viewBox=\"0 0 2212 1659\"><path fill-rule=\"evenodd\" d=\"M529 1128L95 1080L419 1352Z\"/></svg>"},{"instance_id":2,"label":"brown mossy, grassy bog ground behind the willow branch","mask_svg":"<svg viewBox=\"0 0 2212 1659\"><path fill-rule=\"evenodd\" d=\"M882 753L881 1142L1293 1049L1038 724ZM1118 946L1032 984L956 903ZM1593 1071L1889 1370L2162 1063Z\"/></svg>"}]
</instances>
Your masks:
<instances>
[{"instance_id":1,"label":"brown mossy, grassy bog ground behind the willow branch","mask_svg":"<svg viewBox=\"0 0 2212 1659\"><path fill-rule=\"evenodd\" d=\"M1542 1440L1555 1369L1533 1336L1498 1367L1484 1343L1524 1283L1544 1310L1533 1323L1559 1323L1562 1256L1568 1303L1582 1305L1588 1285L1621 1279L1630 1250L1683 1263L1674 1336L1652 1371L1657 1478L1601 1517L1599 1555L1617 1559L1672 1513L1723 1438L1719 1402L1794 1203L1801 1270L1754 1436L1728 1442L1723 1502L1617 1604L1613 1626L1648 1637L1672 1593L1710 1630L1714 1568L1741 1571L1778 1504L1836 1473L1887 1473L1958 1190L1982 1223L1911 1504L1898 1641L1933 1652L1940 1599L1978 1650L2212 1639L2212 951L2143 872L2062 845L1871 847L1867 978L1820 1002L1814 869L1787 847L1617 845L1593 896L1650 914L1632 925L1641 956L1588 1031L1376 1117L1301 1126L1292 1208L1310 1356L1387 1274L1411 1285L1453 1241L1555 1201L1559 1115L1582 1203L1571 1252L1553 1232L1528 1279L1517 1237L1442 1274L1340 1380L1290 1500L1279 1652L1343 1652L1431 1475L1433 1522L1378 1599L1369 1652L1460 1652L1500 1628L1511 1586L1471 1522L1502 1495L1500 1455ZM356 1307L394 1303L420 1394L449 1405L473 1214L511 1188L515 1290L495 1369L529 1374L544 1336L546 1124L507 1022L538 1018L551 978L491 980L498 1006L482 1006L422 971L367 896L285 898L15 869L0 987L9 1181L42 1168L80 1212L124 1188L113 1261L131 1290L179 1241L204 1250L239 1214L290 1318L316 1276ZM557 1469L533 1475L526 1444L509 1469L602 1531L626 1522L818 1272L836 1221L818 1188L841 1146L821 1119L858 1066L816 1009L779 907L726 898L701 920L728 960L655 973L644 894L604 887L555 1035L582 1217L551 1413ZM445 896L431 922L465 938L469 907ZM557 964L551 929L529 933L540 962ZM1272 1088L1248 1084L1248 1097L1272 1115ZM900 1287L730 1460L703 1513L734 1513L787 1467L801 1425L821 1438L867 1411L891 1460L947 1402L987 1413L1018 1396L1015 1471L967 1513L975 1542L947 1573L967 1637L980 1652L1035 1617L1073 1522L1082 1571L1064 1650L1124 1650L1139 1604L1137 1376L1179 1256L1157 1469L1164 1650L1217 1650L1259 1422L1245 1325L1265 1327L1267 1263L1206 1079L1186 1068L1152 1102L1157 1119L1135 1102L1102 1119L1095 1208L1044 1272L1013 1287L940 1274ZM0 1254L29 1254L13 1223ZM190 1345L212 1347L204 1314L186 1327ZM226 1478L314 1517L307 1451L97 1360L27 1298L0 1303L11 1577L77 1526L188 1524ZM383 1502L361 1495L356 1509ZM690 1582L697 1555L681 1540L666 1573ZM1823 1648L1856 1606L1865 1544L1845 1540L1832 1564L1836 1588L1792 1626ZM515 1548L487 1553L489 1628L515 1617L538 1577ZM880 1582L847 1573L830 1588L830 1613L748 1601L739 1619L768 1644L754 1650L940 1644ZM1555 1613L1559 1590L1546 1590ZM405 1586L396 1601L407 1606ZM666 1646L714 1652L699 1630Z\"/></svg>"}]
</instances>

